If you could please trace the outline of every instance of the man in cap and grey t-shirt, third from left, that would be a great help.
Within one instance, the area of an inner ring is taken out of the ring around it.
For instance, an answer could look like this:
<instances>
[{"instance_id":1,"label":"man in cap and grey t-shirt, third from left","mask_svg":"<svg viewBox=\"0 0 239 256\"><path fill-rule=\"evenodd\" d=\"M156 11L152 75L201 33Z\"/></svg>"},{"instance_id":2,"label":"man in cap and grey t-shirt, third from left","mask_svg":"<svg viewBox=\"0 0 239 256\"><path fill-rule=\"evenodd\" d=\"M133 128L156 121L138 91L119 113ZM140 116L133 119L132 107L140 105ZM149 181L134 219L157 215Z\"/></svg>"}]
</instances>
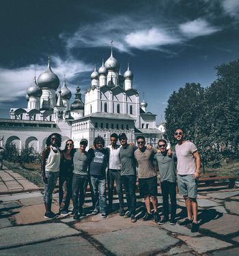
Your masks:
<instances>
[{"instance_id":1,"label":"man in cap and grey t-shirt, third from left","mask_svg":"<svg viewBox=\"0 0 239 256\"><path fill-rule=\"evenodd\" d=\"M88 184L89 153L85 151L88 145L86 139L81 139L80 148L74 152L73 157L73 179L72 179L72 201L74 220L79 220L83 213L83 204Z\"/></svg>"}]
</instances>

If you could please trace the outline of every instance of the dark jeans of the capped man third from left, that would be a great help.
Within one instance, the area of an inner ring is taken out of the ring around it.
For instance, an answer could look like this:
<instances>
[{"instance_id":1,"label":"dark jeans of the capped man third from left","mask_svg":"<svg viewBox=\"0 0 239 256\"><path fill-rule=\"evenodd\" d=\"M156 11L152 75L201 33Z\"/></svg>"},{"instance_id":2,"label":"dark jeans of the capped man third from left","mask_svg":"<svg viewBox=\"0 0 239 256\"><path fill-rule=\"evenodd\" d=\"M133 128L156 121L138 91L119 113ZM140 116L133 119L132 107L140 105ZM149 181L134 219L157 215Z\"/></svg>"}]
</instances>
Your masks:
<instances>
[{"instance_id":1,"label":"dark jeans of the capped man third from left","mask_svg":"<svg viewBox=\"0 0 239 256\"><path fill-rule=\"evenodd\" d=\"M73 213L81 214L83 204L85 203L85 194L88 184L88 175L73 174L72 179L72 201Z\"/></svg>"}]
</instances>

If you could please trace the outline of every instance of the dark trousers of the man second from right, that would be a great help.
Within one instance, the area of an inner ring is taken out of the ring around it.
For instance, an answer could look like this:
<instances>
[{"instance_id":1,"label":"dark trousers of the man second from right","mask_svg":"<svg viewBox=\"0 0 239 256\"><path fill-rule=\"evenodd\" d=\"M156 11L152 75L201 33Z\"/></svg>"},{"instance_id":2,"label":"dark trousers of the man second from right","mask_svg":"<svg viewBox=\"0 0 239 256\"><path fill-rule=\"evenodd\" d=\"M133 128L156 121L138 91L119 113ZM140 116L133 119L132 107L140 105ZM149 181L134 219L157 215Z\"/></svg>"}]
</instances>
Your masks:
<instances>
[{"instance_id":1,"label":"dark trousers of the man second from right","mask_svg":"<svg viewBox=\"0 0 239 256\"><path fill-rule=\"evenodd\" d=\"M177 203L176 203L176 183L169 181L162 181L160 183L162 196L163 196L163 215L165 218L169 218L169 195L171 201L171 220L174 220L176 215Z\"/></svg>"}]
</instances>

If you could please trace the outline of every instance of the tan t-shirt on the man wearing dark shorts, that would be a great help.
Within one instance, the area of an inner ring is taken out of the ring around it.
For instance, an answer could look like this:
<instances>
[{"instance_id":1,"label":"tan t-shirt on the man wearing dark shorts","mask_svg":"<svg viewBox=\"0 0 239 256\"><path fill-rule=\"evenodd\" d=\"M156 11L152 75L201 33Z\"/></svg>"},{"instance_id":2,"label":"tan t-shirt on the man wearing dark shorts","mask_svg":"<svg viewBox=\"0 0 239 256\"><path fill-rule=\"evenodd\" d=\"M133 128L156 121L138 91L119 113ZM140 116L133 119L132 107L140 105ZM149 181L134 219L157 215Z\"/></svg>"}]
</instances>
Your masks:
<instances>
[{"instance_id":1,"label":"tan t-shirt on the man wearing dark shorts","mask_svg":"<svg viewBox=\"0 0 239 256\"><path fill-rule=\"evenodd\" d=\"M145 148L145 151L143 152L140 149L137 149L135 151L135 159L137 160L139 166L139 179L145 179L156 176L156 171L154 170L154 164L152 162L155 153L157 153L157 149L147 150Z\"/></svg>"}]
</instances>

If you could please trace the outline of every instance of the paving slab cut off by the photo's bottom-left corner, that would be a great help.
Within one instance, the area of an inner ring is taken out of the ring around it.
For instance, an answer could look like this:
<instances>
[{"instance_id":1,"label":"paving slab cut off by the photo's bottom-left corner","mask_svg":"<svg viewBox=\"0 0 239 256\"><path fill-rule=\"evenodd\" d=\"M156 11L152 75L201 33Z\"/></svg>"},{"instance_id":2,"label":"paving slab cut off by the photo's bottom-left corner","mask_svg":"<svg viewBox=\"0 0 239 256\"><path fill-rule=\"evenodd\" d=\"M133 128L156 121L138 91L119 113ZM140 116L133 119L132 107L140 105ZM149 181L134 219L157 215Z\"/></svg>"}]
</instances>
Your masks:
<instances>
[{"instance_id":1,"label":"paving slab cut off by the photo's bottom-left corner","mask_svg":"<svg viewBox=\"0 0 239 256\"><path fill-rule=\"evenodd\" d=\"M60 238L57 240L9 248L0 251L1 255L8 256L49 256L49 255L95 255L103 256L92 244L80 236L71 238Z\"/></svg>"}]
</instances>

